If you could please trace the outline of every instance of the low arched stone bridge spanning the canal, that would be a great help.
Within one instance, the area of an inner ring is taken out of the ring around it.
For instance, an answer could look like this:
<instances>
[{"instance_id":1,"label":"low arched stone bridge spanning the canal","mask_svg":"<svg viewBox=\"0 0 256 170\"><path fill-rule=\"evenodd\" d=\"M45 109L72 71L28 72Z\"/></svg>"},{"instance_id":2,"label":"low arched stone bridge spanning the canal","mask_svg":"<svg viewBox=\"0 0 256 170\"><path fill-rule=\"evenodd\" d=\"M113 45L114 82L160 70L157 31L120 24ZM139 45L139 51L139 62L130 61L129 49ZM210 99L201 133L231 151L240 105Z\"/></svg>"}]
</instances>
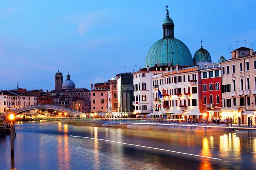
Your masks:
<instances>
[{"instance_id":1,"label":"low arched stone bridge spanning the canal","mask_svg":"<svg viewBox=\"0 0 256 170\"><path fill-rule=\"evenodd\" d=\"M30 111L30 110L34 110L34 109L52 109L55 111L60 111L62 113L67 113L67 115L76 117L80 114L85 115L85 113L83 112L79 112L79 111L74 111L71 109L67 109L67 108L62 108L56 105L31 105L31 106L26 106L24 108L19 108L19 109L15 109L13 111L9 111L7 113L3 113L2 115L0 115L2 118L5 117L9 117L9 115L13 114L14 116L17 116L20 113L26 112L26 111Z\"/></svg>"}]
</instances>

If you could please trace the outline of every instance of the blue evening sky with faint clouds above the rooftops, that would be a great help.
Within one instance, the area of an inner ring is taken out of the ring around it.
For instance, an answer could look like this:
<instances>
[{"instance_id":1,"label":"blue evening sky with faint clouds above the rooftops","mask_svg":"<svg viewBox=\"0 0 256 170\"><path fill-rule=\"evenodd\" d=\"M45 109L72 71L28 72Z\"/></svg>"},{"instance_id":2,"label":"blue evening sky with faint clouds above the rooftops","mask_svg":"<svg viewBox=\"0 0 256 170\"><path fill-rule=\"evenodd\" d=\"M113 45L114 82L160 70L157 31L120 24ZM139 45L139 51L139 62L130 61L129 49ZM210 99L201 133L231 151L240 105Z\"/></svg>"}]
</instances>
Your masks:
<instances>
[{"instance_id":1,"label":"blue evening sky with faint clouds above the rooftops","mask_svg":"<svg viewBox=\"0 0 256 170\"><path fill-rule=\"evenodd\" d=\"M51 91L59 70L90 90L138 71L163 37L166 5L175 38L192 57L201 40L213 62L221 52L228 59L230 46L250 48L251 35L256 48L255 0L2 0L0 88L17 89L19 81L19 88Z\"/></svg>"}]
</instances>

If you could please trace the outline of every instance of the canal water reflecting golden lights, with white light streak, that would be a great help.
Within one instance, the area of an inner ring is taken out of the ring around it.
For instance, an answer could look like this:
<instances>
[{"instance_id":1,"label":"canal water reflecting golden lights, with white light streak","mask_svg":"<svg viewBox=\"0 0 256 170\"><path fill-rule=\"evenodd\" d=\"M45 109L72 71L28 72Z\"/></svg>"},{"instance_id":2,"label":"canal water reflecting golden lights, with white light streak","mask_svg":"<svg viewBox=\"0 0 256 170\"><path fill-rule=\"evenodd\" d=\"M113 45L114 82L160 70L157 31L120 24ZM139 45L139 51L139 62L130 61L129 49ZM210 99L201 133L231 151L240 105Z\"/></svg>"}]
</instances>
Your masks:
<instances>
[{"instance_id":1,"label":"canal water reflecting golden lights, with white light streak","mask_svg":"<svg viewBox=\"0 0 256 170\"><path fill-rule=\"evenodd\" d=\"M255 169L256 139L233 133L195 135L156 130L16 122L0 138L1 170Z\"/></svg>"}]
</instances>

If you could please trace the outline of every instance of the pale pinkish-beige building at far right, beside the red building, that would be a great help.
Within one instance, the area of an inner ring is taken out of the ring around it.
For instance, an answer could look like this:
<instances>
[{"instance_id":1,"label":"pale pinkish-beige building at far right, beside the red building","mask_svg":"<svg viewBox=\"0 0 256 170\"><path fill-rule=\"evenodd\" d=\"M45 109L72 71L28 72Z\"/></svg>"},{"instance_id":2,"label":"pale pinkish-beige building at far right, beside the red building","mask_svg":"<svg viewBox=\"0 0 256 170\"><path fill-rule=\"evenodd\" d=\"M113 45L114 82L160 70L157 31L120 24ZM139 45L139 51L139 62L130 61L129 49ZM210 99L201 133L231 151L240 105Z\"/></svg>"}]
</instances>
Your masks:
<instances>
[{"instance_id":1,"label":"pale pinkish-beige building at far right, beside the red building","mask_svg":"<svg viewBox=\"0 0 256 170\"><path fill-rule=\"evenodd\" d=\"M233 123L248 123L255 120L256 52L241 47L231 52L232 58L221 62L223 118L232 118Z\"/></svg>"}]
</instances>

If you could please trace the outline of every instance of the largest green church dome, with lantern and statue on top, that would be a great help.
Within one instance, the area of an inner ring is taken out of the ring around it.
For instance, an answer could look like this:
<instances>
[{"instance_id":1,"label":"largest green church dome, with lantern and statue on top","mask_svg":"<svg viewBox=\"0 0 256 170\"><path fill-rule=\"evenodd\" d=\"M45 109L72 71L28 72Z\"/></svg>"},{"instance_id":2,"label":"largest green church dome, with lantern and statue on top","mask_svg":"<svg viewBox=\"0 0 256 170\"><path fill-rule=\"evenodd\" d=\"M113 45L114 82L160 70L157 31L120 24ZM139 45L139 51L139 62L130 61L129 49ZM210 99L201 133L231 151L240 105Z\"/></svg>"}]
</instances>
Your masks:
<instances>
[{"instance_id":1,"label":"largest green church dome, with lantern and statue on top","mask_svg":"<svg viewBox=\"0 0 256 170\"><path fill-rule=\"evenodd\" d=\"M174 38L174 23L169 17L168 9L162 26L163 38L149 48L144 66L153 67L156 63L160 65L172 63L172 65L192 66L193 59L189 48L182 41Z\"/></svg>"}]
</instances>

